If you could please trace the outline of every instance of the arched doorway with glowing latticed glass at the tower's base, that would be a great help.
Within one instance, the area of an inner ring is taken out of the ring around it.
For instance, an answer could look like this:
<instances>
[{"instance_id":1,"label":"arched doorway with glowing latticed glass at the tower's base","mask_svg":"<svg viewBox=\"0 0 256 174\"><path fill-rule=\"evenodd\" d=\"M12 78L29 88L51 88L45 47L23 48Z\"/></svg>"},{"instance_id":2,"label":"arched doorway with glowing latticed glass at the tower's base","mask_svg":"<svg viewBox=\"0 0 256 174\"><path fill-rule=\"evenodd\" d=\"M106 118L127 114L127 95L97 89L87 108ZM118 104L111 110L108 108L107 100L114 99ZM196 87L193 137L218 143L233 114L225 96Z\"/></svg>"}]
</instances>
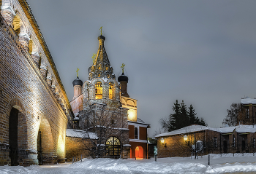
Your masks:
<instances>
[{"instance_id":1,"label":"arched doorway with glowing latticed glass at the tower's base","mask_svg":"<svg viewBox=\"0 0 256 174\"><path fill-rule=\"evenodd\" d=\"M118 159L121 154L121 142L116 137L110 137L106 141L107 156Z\"/></svg>"}]
</instances>

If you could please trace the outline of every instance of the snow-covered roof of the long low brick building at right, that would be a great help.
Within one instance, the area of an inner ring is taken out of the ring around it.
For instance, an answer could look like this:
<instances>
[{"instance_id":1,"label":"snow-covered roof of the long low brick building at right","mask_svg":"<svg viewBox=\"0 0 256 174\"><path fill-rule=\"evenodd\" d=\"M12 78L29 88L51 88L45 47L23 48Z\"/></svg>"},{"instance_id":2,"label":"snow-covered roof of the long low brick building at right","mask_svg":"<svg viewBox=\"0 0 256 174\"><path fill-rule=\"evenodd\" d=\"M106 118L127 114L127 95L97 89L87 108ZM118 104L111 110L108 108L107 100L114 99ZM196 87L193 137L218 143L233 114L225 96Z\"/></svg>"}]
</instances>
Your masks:
<instances>
[{"instance_id":1,"label":"snow-covered roof of the long low brick building at right","mask_svg":"<svg viewBox=\"0 0 256 174\"><path fill-rule=\"evenodd\" d=\"M190 125L187 127L183 127L179 130L173 130L168 133L161 133L159 135L156 135L155 138L159 137L165 137L169 135L180 135L180 134L186 134L186 133L194 133L199 132L203 130L212 130L219 133L232 133L234 130L236 130L237 133L256 133L256 124L253 125L238 125L233 127L222 127L222 128L212 128L212 127L206 127L201 125Z\"/></svg>"}]
</instances>

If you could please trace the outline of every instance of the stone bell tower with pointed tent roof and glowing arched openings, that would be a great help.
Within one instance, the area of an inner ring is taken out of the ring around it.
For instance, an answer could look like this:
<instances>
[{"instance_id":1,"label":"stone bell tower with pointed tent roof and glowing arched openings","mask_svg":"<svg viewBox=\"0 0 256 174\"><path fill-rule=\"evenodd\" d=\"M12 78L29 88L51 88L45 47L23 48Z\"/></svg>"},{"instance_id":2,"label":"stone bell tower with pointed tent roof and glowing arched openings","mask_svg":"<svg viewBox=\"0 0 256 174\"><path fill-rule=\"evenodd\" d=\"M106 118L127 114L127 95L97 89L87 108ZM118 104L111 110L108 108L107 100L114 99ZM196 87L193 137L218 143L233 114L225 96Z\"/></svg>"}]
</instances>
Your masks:
<instances>
[{"instance_id":1,"label":"stone bell tower with pointed tent roof and glowing arched openings","mask_svg":"<svg viewBox=\"0 0 256 174\"><path fill-rule=\"evenodd\" d=\"M99 49L89 67L89 80L83 83L83 111L79 112L80 130L96 133L94 149L110 157L129 156L127 108L121 107L121 90L104 47L105 36L98 37ZM93 145L92 145L93 146ZM121 155L121 156L120 156Z\"/></svg>"}]
</instances>

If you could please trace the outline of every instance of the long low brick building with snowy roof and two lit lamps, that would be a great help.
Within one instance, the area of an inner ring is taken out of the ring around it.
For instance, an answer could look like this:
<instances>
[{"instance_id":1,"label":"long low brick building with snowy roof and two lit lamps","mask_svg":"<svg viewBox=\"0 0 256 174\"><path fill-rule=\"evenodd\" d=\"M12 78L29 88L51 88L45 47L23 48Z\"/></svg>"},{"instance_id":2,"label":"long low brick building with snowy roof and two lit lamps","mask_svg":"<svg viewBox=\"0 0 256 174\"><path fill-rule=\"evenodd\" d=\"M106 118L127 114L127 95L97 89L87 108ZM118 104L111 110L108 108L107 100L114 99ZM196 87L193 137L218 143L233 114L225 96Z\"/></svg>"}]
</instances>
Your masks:
<instances>
[{"instance_id":1,"label":"long low brick building with snowy roof and two lit lamps","mask_svg":"<svg viewBox=\"0 0 256 174\"><path fill-rule=\"evenodd\" d=\"M155 138L158 157L189 157L195 153L194 149L197 155L252 153L255 152L256 127L241 124L212 128L195 124L156 135Z\"/></svg>"}]
</instances>

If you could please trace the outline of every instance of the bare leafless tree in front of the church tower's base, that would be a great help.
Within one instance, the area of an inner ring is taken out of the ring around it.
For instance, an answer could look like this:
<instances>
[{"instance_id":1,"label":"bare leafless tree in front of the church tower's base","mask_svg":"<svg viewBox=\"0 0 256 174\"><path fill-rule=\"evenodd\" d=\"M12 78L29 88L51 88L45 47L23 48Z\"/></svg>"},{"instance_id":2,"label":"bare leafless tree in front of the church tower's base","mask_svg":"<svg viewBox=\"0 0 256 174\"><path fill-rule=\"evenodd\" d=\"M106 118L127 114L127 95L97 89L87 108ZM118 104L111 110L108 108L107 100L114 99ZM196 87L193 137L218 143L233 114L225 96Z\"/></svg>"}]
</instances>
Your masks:
<instances>
[{"instance_id":1,"label":"bare leafless tree in front of the church tower's base","mask_svg":"<svg viewBox=\"0 0 256 174\"><path fill-rule=\"evenodd\" d=\"M120 109L99 103L83 111L80 116L80 129L83 130L83 137L87 140L84 141L84 148L89 151L91 157L109 155L106 141L110 135L121 137L123 133L121 127L124 127L123 122L118 122L121 116Z\"/></svg>"}]
</instances>

